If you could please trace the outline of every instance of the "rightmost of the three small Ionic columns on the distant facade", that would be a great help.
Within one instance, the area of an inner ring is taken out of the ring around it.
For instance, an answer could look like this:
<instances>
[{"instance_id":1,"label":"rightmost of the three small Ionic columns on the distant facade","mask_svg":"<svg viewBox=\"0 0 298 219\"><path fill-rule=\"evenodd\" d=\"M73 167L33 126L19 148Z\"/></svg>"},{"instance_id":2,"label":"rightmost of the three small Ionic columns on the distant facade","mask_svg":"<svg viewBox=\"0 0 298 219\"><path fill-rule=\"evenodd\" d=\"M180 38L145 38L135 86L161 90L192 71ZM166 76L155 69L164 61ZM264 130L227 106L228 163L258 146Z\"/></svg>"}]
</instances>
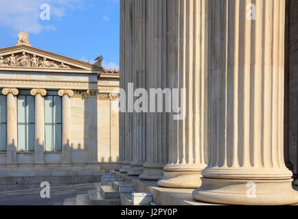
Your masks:
<instances>
[{"instance_id":1,"label":"rightmost of the three small Ionic columns on the distant facade","mask_svg":"<svg viewBox=\"0 0 298 219\"><path fill-rule=\"evenodd\" d=\"M62 164L71 164L71 96L73 90L59 90L62 96Z\"/></svg>"}]
</instances>

